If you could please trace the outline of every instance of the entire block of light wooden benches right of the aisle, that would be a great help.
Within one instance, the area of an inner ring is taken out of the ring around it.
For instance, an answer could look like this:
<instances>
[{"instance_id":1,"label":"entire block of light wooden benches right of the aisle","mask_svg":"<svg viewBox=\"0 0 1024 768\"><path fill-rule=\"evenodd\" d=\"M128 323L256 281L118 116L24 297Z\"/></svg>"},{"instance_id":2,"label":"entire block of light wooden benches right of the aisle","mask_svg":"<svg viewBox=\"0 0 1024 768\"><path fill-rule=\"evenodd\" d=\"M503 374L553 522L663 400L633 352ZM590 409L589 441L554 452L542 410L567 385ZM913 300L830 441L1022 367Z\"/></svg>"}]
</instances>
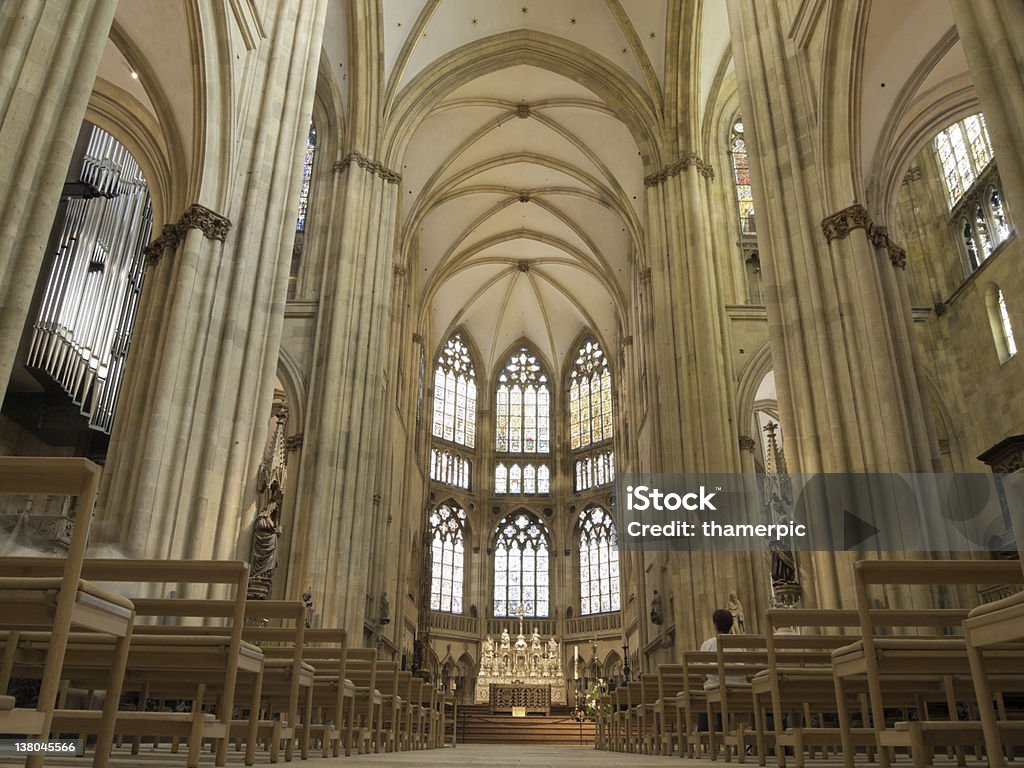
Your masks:
<instances>
[{"instance_id":1,"label":"entire block of light wooden benches right of the aisle","mask_svg":"<svg viewBox=\"0 0 1024 768\"><path fill-rule=\"evenodd\" d=\"M974 750L992 766L1024 744L1008 693L1024 692L1024 593L973 611L878 608L872 588L1024 583L1017 562L857 563L857 608L773 609L764 635L724 635L713 651L621 686L597 722L599 749L759 765L786 754L863 755L886 768ZM717 683L709 684L709 676Z\"/></svg>"}]
</instances>

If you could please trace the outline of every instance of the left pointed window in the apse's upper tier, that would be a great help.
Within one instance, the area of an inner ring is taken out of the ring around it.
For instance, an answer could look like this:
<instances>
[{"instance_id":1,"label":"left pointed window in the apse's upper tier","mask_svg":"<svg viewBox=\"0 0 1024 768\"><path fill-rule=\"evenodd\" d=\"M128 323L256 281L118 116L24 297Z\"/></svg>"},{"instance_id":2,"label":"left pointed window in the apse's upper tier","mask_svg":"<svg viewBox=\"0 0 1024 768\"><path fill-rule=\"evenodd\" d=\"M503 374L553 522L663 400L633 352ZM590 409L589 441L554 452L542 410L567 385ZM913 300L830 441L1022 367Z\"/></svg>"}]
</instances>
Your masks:
<instances>
[{"instance_id":1,"label":"left pointed window in the apse's upper tier","mask_svg":"<svg viewBox=\"0 0 1024 768\"><path fill-rule=\"evenodd\" d=\"M460 334L437 355L433 435L466 447L473 447L476 439L476 371Z\"/></svg>"}]
</instances>

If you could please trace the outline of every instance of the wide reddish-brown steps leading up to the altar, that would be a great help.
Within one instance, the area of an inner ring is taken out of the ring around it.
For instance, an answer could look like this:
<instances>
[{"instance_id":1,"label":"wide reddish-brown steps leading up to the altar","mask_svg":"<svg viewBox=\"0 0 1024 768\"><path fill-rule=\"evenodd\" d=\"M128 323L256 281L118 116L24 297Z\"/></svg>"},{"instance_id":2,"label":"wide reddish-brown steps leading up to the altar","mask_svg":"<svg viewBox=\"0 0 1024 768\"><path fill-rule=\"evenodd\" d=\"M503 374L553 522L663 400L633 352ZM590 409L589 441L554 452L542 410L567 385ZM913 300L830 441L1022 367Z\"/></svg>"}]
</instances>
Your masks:
<instances>
[{"instance_id":1,"label":"wide reddish-brown steps leading up to the altar","mask_svg":"<svg viewBox=\"0 0 1024 768\"><path fill-rule=\"evenodd\" d=\"M486 705L459 707L459 741L468 744L594 743L594 722L580 724L570 707L552 707L550 715L492 715Z\"/></svg>"}]
</instances>

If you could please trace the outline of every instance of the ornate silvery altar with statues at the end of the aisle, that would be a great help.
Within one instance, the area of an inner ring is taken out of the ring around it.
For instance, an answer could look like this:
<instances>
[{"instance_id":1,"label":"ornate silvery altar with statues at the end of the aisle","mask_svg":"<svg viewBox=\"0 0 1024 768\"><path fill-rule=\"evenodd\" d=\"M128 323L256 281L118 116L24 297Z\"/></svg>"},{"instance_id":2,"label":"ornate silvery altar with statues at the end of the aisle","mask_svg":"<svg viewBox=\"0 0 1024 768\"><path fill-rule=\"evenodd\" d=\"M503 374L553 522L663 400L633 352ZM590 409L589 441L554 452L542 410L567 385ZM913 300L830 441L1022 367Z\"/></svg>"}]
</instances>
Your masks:
<instances>
[{"instance_id":1,"label":"ornate silvery altar with statues at the end of the aisle","mask_svg":"<svg viewBox=\"0 0 1024 768\"><path fill-rule=\"evenodd\" d=\"M525 707L527 712L550 712L551 705L566 703L558 641L553 637L543 641L536 627L527 641L521 618L515 643L507 628L498 642L488 636L480 654L474 700L489 705L492 712L511 712L513 707Z\"/></svg>"}]
</instances>

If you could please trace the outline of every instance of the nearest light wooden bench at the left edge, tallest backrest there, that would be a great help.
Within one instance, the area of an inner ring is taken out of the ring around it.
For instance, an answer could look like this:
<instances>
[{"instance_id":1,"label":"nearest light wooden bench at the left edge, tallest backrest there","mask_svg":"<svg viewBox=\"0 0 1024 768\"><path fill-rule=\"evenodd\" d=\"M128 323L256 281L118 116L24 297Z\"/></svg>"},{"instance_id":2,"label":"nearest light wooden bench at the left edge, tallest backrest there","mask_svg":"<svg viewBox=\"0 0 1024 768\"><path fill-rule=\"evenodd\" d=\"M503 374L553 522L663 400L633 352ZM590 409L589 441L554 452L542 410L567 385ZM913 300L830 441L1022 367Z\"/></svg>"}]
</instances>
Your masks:
<instances>
[{"instance_id":1,"label":"nearest light wooden bench at the left edge, tallest backrest there","mask_svg":"<svg viewBox=\"0 0 1024 768\"><path fill-rule=\"evenodd\" d=\"M102 682L108 694L93 756L93 765L102 768L114 740L115 716L135 609L127 598L82 579L99 471L98 466L85 459L0 457L0 494L45 494L78 499L68 556L53 562L54 569L43 577L26 574L18 567L20 558L0 558L0 629L14 633L5 638L0 692L5 693L10 683L18 646L17 632L43 629L50 633L40 670L36 708L16 707L12 697L0 696L5 699L0 707L0 733L48 738L54 732L53 716L72 628L104 633L112 639L108 674ZM26 764L33 768L41 766L43 757L32 756Z\"/></svg>"}]
</instances>

